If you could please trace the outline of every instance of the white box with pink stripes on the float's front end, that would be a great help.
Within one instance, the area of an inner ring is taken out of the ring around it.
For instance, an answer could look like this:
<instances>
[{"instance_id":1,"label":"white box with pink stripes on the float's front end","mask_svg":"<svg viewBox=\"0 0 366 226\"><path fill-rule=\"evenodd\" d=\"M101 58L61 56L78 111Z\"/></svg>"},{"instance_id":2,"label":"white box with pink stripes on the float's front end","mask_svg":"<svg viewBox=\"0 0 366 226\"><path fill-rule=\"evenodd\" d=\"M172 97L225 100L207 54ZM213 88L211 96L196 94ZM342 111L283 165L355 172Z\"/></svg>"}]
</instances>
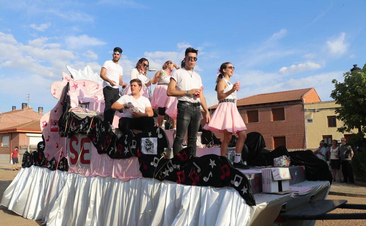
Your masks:
<instances>
[{"instance_id":1,"label":"white box with pink stripes on the float's front end","mask_svg":"<svg viewBox=\"0 0 366 226\"><path fill-rule=\"evenodd\" d=\"M262 169L262 190L263 192L283 192L290 189L290 171L284 168Z\"/></svg>"}]
</instances>

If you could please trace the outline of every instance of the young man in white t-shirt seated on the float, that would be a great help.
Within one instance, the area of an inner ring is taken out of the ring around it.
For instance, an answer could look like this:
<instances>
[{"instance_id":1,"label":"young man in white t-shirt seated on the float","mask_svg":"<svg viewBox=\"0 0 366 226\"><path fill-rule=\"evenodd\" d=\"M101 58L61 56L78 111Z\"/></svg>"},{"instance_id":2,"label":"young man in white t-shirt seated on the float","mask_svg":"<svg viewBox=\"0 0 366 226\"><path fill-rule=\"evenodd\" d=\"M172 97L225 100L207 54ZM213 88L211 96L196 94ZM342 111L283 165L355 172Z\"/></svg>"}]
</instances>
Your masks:
<instances>
[{"instance_id":1,"label":"young man in white t-shirt seated on the float","mask_svg":"<svg viewBox=\"0 0 366 226\"><path fill-rule=\"evenodd\" d=\"M123 117L119 119L118 123L118 128L122 133L127 130L144 131L155 125L150 101L140 95L141 80L132 79L130 87L131 93L120 97L111 107L113 111L123 110Z\"/></svg>"}]
</instances>

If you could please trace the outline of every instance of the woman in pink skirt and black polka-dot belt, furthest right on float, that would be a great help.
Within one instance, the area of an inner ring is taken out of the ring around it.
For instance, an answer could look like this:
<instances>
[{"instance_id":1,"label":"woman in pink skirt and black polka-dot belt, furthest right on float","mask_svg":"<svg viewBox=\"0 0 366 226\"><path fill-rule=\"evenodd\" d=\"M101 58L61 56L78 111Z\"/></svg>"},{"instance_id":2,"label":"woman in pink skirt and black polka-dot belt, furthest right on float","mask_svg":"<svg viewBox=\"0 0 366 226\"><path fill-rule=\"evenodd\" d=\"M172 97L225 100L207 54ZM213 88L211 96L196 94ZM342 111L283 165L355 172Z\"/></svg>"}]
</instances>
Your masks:
<instances>
[{"instance_id":1,"label":"woman in pink skirt and black polka-dot belt, furthest right on float","mask_svg":"<svg viewBox=\"0 0 366 226\"><path fill-rule=\"evenodd\" d=\"M230 78L234 74L234 69L230 62L221 64L217 73L218 77L215 87L219 105L213 112L210 123L205 125L203 129L224 134L224 140L220 147L222 156L225 156L227 153L232 134L238 134L233 166L235 168L249 168L240 161L244 141L247 138L247 127L236 107L236 92L240 89L240 84L239 82L232 84L230 81Z\"/></svg>"}]
</instances>

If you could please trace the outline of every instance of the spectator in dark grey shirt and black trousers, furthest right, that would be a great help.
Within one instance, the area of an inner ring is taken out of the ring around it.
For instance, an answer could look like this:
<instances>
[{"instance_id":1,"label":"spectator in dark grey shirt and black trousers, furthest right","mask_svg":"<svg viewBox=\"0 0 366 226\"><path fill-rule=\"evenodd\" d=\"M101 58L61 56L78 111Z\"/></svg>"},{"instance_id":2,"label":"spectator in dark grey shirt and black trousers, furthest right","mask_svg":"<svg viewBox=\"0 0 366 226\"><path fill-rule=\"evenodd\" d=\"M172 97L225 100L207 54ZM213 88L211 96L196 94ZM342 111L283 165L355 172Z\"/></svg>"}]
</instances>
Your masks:
<instances>
[{"instance_id":1,"label":"spectator in dark grey shirt and black trousers, furthest right","mask_svg":"<svg viewBox=\"0 0 366 226\"><path fill-rule=\"evenodd\" d=\"M352 171L353 151L351 145L346 144L346 138L344 137L341 138L341 146L339 147L339 151L342 166L343 183L354 184L355 179L353 177Z\"/></svg>"}]
</instances>

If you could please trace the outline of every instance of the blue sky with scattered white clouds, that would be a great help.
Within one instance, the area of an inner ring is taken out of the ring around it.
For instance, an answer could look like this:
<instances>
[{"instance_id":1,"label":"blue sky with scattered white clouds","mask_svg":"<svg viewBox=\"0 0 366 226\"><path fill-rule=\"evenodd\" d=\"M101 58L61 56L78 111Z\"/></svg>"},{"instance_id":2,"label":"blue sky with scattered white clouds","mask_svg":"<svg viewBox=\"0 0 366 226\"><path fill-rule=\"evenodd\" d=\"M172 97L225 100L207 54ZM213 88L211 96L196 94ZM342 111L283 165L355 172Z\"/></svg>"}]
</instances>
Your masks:
<instances>
[{"instance_id":1,"label":"blue sky with scattered white clouds","mask_svg":"<svg viewBox=\"0 0 366 226\"><path fill-rule=\"evenodd\" d=\"M4 1L0 0L0 111L56 104L50 86L66 64L99 73L123 49L124 81L141 57L159 69L198 48L195 70L208 105L223 62L235 66L238 97L314 87L331 100L332 79L366 63L365 1ZM153 76L153 73L151 74Z\"/></svg>"}]
</instances>

